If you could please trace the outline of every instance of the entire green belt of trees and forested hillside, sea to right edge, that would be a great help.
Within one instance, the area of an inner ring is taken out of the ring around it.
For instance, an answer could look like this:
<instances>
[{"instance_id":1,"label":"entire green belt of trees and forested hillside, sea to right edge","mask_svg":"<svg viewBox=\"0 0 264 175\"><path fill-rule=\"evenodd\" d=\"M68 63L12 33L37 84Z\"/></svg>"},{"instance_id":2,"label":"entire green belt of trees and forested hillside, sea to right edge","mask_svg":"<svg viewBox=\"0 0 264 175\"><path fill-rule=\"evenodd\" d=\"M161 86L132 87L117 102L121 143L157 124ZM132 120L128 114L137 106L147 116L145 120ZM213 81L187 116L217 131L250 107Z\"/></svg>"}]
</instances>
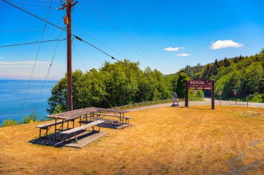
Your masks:
<instances>
[{"instance_id":1,"label":"entire green belt of trees and forested hillside, sea to right edge","mask_svg":"<svg viewBox=\"0 0 264 175\"><path fill-rule=\"evenodd\" d=\"M215 97L222 90L222 98L233 99L234 89L238 98L264 102L264 50L255 56L239 56L215 60L214 63L190 67L187 65L176 74L163 76L157 69L140 69L140 63L124 60L116 63L105 62L102 67L88 72L76 70L72 73L74 109L89 106L110 108L129 103L172 98L176 92L184 97L185 81L193 78L208 78L215 81ZM190 98L202 98L204 92L198 90ZM67 110L67 75L51 90L48 99L49 113Z\"/></svg>"}]
</instances>

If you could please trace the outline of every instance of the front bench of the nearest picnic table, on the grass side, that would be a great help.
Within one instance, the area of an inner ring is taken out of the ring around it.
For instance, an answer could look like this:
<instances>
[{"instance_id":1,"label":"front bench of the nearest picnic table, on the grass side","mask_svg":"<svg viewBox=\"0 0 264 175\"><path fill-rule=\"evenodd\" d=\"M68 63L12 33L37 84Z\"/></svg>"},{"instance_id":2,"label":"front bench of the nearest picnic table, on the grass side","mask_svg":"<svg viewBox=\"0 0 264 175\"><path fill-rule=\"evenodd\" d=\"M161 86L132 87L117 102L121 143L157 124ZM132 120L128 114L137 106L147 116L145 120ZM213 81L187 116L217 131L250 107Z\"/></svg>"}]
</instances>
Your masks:
<instances>
[{"instance_id":1,"label":"front bench of the nearest picnic table, on the grass side","mask_svg":"<svg viewBox=\"0 0 264 175\"><path fill-rule=\"evenodd\" d=\"M74 138L75 138L76 142L78 143L78 140L77 140L76 135L75 135L76 132L82 131L82 130L87 130L88 127L92 127L92 132L94 132L94 131L96 131L96 130L94 130L94 126L99 125L101 123L104 123L104 121L97 120L97 121L91 122L89 124L85 124L83 126L79 126L77 128L72 128L72 129L69 129L67 131L60 132L60 134L61 135L67 135L67 138L69 139L69 135L74 133ZM100 131L100 125L99 125L99 130L97 132L99 132L99 131Z\"/></svg>"}]
</instances>

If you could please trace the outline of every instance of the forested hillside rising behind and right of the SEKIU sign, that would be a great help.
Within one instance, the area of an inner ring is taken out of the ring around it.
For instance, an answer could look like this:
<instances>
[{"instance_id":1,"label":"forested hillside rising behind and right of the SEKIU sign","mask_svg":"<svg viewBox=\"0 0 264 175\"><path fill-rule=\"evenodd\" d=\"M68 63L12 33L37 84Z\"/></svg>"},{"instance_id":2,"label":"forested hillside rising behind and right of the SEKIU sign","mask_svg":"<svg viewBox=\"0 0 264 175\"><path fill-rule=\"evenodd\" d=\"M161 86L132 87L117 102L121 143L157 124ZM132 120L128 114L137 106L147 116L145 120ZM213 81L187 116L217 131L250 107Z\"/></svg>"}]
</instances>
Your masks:
<instances>
[{"instance_id":1,"label":"forested hillside rising behind and right of the SEKIU sign","mask_svg":"<svg viewBox=\"0 0 264 175\"><path fill-rule=\"evenodd\" d=\"M215 97L246 100L251 95L251 101L264 102L264 49L255 56L238 56L235 58L215 59L214 63L190 67L187 65L181 71L190 78L207 78L215 81Z\"/></svg>"}]
</instances>

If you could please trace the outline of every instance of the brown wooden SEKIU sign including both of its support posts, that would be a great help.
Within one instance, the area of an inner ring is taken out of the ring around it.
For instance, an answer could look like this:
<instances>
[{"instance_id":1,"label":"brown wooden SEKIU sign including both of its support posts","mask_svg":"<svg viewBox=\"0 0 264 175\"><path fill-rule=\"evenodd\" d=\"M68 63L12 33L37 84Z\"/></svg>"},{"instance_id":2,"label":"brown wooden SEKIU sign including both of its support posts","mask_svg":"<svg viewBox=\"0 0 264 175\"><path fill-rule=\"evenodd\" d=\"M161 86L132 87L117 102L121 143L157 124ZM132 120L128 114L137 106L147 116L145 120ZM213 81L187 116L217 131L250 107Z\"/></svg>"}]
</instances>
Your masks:
<instances>
[{"instance_id":1,"label":"brown wooden SEKIU sign including both of its support posts","mask_svg":"<svg viewBox=\"0 0 264 175\"><path fill-rule=\"evenodd\" d=\"M215 109L215 82L203 78L185 82L185 107L188 107L188 90L211 90L211 109Z\"/></svg>"}]
</instances>

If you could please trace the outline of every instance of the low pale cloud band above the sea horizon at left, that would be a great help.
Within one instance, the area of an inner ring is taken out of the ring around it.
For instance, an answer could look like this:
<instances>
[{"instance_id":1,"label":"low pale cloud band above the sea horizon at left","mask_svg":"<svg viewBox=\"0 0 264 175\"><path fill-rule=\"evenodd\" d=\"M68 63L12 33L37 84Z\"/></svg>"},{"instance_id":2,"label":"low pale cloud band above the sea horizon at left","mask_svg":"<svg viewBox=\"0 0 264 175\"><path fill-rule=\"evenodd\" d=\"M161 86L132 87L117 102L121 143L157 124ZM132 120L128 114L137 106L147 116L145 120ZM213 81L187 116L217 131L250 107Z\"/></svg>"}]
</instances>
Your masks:
<instances>
[{"instance_id":1,"label":"low pale cloud band above the sea horizon at left","mask_svg":"<svg viewBox=\"0 0 264 175\"><path fill-rule=\"evenodd\" d=\"M0 61L1 67L33 67L35 61ZM50 65L49 62L46 61L37 61L35 63L38 67L47 67Z\"/></svg>"}]
</instances>

